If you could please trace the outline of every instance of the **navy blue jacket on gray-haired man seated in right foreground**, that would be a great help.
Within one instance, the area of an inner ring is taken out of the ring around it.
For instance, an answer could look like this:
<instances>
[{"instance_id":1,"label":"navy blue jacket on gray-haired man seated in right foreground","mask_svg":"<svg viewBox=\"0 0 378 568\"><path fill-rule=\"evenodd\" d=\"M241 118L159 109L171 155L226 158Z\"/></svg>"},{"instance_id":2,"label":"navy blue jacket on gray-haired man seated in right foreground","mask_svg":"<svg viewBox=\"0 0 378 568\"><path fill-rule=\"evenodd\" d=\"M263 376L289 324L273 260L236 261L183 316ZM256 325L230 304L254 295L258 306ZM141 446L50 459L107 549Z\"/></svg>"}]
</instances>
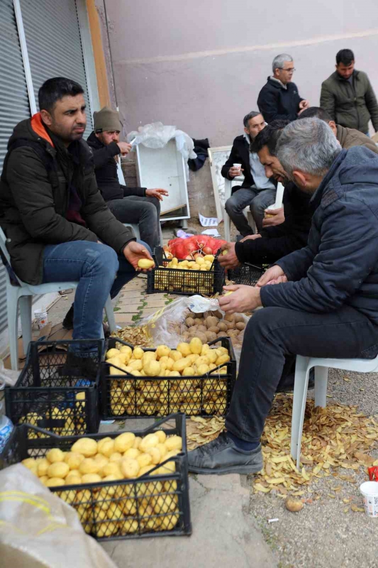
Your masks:
<instances>
[{"instance_id":1,"label":"navy blue jacket on gray-haired man seated in right foreground","mask_svg":"<svg viewBox=\"0 0 378 568\"><path fill-rule=\"evenodd\" d=\"M378 324L378 156L342 150L314 193L308 245L278 264L289 282L261 289L263 306L326 314L344 304Z\"/></svg>"}]
</instances>

